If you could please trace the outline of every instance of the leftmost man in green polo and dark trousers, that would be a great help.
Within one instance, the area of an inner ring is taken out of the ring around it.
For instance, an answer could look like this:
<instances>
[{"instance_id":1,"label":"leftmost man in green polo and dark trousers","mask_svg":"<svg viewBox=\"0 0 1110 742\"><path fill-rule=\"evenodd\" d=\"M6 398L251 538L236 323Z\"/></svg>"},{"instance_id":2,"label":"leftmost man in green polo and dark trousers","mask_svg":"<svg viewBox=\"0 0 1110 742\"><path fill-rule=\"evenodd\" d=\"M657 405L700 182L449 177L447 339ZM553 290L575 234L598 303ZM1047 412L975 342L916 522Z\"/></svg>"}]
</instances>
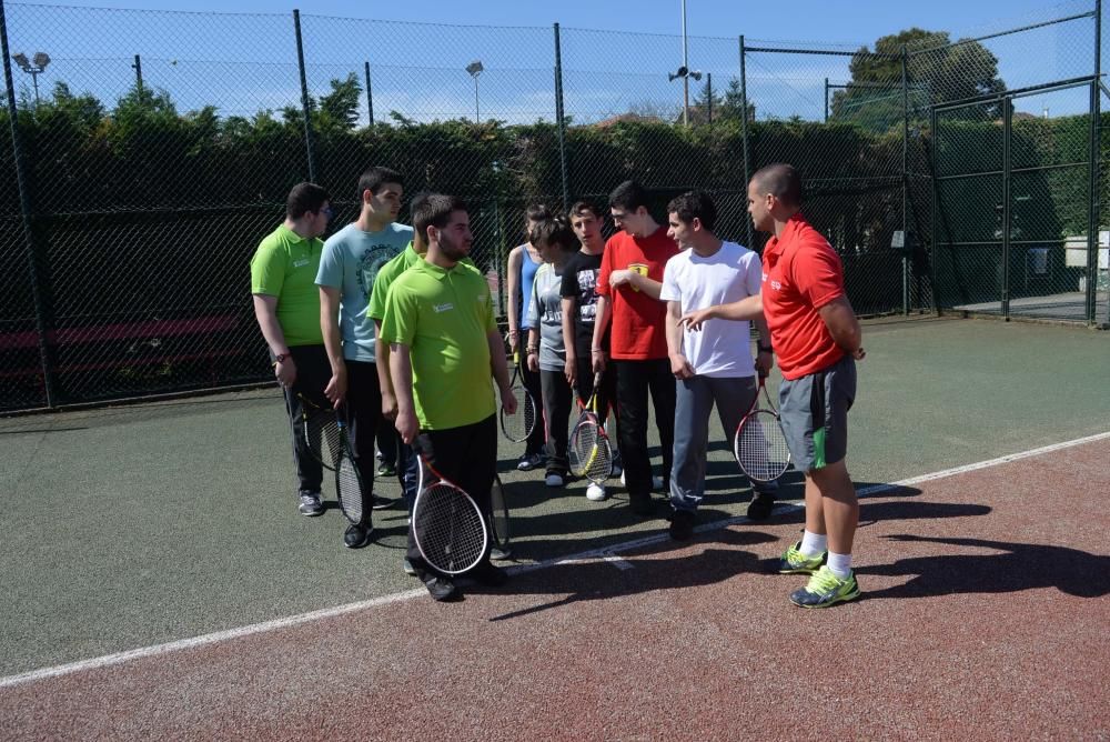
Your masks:
<instances>
[{"instance_id":1,"label":"leftmost man in green polo and dark trousers","mask_svg":"<svg viewBox=\"0 0 1110 742\"><path fill-rule=\"evenodd\" d=\"M324 385L331 364L320 332L320 292L316 271L332 215L330 197L320 186L297 183L285 201L285 221L268 234L251 259L254 315L270 349L274 375L285 393L293 431L300 511L324 513L320 504L323 469L304 442L301 397L330 407Z\"/></svg>"}]
</instances>

